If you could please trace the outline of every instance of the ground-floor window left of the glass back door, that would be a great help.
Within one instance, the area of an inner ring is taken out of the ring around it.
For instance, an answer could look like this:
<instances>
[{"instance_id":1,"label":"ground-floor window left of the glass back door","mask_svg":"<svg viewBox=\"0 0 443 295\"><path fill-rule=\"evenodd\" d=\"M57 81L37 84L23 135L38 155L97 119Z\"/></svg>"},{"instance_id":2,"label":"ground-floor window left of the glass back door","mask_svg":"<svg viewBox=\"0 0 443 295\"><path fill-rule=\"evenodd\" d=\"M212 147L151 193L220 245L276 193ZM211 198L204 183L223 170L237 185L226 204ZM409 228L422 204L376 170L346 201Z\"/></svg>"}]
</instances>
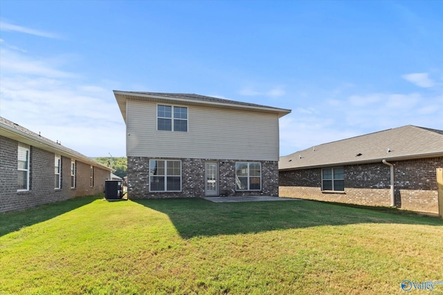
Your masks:
<instances>
[{"instance_id":1,"label":"ground-floor window left of the glass back door","mask_svg":"<svg viewBox=\"0 0 443 295\"><path fill-rule=\"evenodd\" d=\"M181 191L181 161L150 160L150 191Z\"/></svg>"}]
</instances>

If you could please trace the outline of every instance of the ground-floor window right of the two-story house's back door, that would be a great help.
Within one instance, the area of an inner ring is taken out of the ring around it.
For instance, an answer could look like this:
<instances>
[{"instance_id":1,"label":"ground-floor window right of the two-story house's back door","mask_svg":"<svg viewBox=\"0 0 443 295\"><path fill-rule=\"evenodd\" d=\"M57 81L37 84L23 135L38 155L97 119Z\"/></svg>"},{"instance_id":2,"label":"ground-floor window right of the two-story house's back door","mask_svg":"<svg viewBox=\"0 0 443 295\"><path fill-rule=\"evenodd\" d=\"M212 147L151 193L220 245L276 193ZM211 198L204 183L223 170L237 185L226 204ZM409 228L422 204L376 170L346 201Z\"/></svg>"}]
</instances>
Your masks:
<instances>
[{"instance_id":1,"label":"ground-floor window right of the two-story house's back door","mask_svg":"<svg viewBox=\"0 0 443 295\"><path fill-rule=\"evenodd\" d=\"M262 189L262 164L260 162L235 162L235 190L260 191Z\"/></svg>"}]
</instances>

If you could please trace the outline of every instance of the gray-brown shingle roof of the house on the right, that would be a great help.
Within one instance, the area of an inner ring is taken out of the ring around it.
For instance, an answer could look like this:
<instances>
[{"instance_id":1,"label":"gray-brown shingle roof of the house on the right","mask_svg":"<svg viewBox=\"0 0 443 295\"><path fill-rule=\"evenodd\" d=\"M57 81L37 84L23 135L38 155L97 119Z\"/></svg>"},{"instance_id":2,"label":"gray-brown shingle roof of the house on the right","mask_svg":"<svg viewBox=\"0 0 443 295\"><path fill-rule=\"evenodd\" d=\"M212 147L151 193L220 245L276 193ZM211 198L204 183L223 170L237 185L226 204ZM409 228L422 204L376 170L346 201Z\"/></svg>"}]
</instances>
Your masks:
<instances>
[{"instance_id":1,"label":"gray-brown shingle roof of the house on the right","mask_svg":"<svg viewBox=\"0 0 443 295\"><path fill-rule=\"evenodd\" d=\"M443 157L443 131L413 125L311 146L280 157L280 170Z\"/></svg>"}]
</instances>

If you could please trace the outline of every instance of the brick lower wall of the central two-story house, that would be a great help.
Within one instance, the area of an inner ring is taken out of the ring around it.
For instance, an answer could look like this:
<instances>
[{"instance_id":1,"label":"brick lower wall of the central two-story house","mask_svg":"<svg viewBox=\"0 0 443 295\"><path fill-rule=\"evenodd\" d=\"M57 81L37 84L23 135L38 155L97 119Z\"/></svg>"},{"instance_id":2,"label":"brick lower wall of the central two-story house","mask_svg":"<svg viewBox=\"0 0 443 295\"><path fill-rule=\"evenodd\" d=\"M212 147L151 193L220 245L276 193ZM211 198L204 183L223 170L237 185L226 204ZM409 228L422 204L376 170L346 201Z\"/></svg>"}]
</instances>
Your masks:
<instances>
[{"instance_id":1,"label":"brick lower wall of the central two-story house","mask_svg":"<svg viewBox=\"0 0 443 295\"><path fill-rule=\"evenodd\" d=\"M162 160L155 158L155 160ZM277 161L244 161L214 159L163 159L181 160L181 191L150 192L149 162L150 158L128 157L127 181L129 198L195 198L205 196L205 162L219 164L220 196L278 196L278 162ZM235 162L262 163L262 190L235 191Z\"/></svg>"}]
</instances>

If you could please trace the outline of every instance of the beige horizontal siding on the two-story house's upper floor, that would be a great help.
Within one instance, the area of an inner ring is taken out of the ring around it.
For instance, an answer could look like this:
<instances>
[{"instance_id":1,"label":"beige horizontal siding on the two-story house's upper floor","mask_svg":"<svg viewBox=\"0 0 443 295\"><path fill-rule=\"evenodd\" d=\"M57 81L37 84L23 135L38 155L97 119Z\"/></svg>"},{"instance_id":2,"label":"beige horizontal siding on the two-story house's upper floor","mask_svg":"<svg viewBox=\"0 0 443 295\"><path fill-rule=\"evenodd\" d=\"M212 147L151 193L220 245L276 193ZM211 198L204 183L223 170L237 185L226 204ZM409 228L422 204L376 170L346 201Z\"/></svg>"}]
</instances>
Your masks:
<instances>
[{"instance_id":1,"label":"beige horizontal siding on the two-story house's upper floor","mask_svg":"<svg viewBox=\"0 0 443 295\"><path fill-rule=\"evenodd\" d=\"M127 101L128 156L278 161L277 114L186 106L185 133L157 131L156 106Z\"/></svg>"}]
</instances>

